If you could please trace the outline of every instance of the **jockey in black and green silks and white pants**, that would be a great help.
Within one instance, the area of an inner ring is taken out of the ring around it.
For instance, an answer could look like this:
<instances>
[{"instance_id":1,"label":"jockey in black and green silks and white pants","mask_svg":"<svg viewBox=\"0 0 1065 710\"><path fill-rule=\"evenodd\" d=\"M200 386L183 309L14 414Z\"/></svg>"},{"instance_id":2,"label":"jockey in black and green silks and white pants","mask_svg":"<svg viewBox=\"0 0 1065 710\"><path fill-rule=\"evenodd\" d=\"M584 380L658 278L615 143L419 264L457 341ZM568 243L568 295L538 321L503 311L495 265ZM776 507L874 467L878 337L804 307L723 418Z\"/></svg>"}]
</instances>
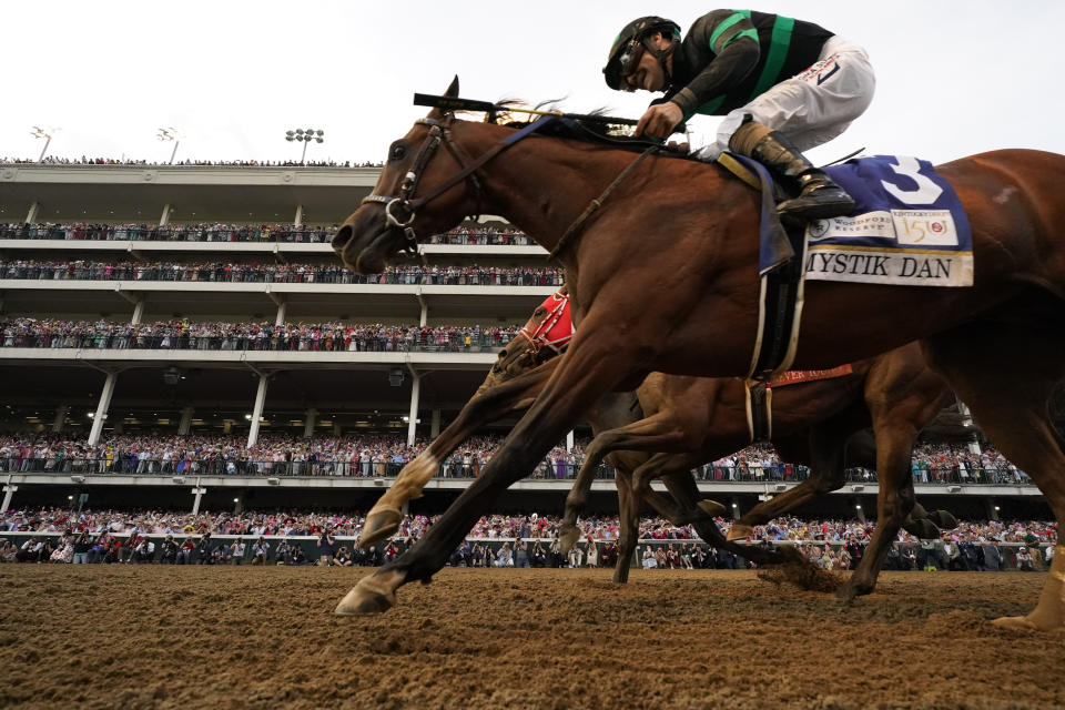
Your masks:
<instances>
[{"instance_id":1,"label":"jockey in black and green silks and white pants","mask_svg":"<svg viewBox=\"0 0 1065 710\"><path fill-rule=\"evenodd\" d=\"M615 39L602 73L617 91L666 93L637 135L665 139L696 113L723 115L717 142L697 158L710 162L728 149L758 160L800 192L781 213L814 220L853 210L851 196L801 151L842 133L872 101L873 69L854 42L749 10L713 10L681 41L676 22L645 17Z\"/></svg>"}]
</instances>

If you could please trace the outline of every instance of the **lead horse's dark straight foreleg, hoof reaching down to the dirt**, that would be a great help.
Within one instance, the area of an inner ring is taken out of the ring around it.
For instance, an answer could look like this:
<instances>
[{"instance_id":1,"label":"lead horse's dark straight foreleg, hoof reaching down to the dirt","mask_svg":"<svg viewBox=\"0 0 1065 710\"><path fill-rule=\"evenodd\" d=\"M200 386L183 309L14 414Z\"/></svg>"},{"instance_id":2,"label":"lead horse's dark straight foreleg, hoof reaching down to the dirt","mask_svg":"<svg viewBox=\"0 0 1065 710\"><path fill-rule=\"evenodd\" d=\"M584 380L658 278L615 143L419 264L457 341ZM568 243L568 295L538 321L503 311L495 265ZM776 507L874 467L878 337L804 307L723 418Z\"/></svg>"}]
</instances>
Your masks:
<instances>
[{"instance_id":1,"label":"lead horse's dark straight foreleg, hoof reaching down to the dirt","mask_svg":"<svg viewBox=\"0 0 1065 710\"><path fill-rule=\"evenodd\" d=\"M364 578L341 601L336 613L379 612L395 604L395 590L410 581L428 582L481 515L516 480L528 475L570 430L580 415L636 366L606 328L582 326L561 357L536 403L481 468L463 495L398 559Z\"/></svg>"}]
</instances>

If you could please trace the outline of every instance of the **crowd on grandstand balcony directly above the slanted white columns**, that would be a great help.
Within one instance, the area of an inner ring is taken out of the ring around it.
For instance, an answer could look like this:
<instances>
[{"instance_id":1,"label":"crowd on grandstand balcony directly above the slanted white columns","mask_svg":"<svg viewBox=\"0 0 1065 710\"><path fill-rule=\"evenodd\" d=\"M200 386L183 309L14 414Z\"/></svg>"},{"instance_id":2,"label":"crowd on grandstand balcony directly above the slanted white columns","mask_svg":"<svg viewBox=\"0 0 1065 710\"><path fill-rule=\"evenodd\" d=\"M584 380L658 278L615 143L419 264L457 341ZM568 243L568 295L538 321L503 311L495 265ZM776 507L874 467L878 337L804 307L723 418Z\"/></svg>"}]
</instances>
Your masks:
<instances>
[{"instance_id":1,"label":"crowd on grandstand balcony directly above the slanted white columns","mask_svg":"<svg viewBox=\"0 0 1065 710\"><path fill-rule=\"evenodd\" d=\"M509 343L520 326L385 325L382 323L154 323L0 316L2 347L99 349L481 352Z\"/></svg>"}]
</instances>

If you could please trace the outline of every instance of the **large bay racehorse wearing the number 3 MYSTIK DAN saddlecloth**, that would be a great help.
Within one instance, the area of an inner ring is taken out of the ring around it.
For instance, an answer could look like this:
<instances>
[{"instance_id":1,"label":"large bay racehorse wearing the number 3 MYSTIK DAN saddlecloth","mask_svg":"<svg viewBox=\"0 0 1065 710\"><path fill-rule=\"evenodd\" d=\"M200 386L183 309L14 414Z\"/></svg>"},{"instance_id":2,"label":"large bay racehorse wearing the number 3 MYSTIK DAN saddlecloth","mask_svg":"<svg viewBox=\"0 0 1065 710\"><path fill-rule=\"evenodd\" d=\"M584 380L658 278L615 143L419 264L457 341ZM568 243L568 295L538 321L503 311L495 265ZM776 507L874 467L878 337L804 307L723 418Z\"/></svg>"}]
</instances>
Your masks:
<instances>
[{"instance_id":1,"label":"large bay racehorse wearing the number 3 MYSTIK DAN saddlecloth","mask_svg":"<svg viewBox=\"0 0 1065 710\"><path fill-rule=\"evenodd\" d=\"M458 81L448 89L457 95ZM545 389L481 475L398 559L365 578L338 613L382 611L396 589L432 580L476 520L527 475L592 403L647 373L746 376L758 324L759 195L721 169L651 156L598 211L630 151L434 109L389 148L376 194L334 237L344 262L377 273L418 234L498 214L558 260L580 329ZM520 134L525 135L525 134ZM443 150L437 150L443 146ZM939 166L973 225L975 284L921 288L814 282L792 366L820 369L922 339L930 364L998 449L1065 519L1065 455L1047 400L1065 375L1065 158L997 151ZM582 214L578 234L560 244ZM1010 343L991 348L988 342ZM1065 546L1023 628L1065 626Z\"/></svg>"}]
</instances>

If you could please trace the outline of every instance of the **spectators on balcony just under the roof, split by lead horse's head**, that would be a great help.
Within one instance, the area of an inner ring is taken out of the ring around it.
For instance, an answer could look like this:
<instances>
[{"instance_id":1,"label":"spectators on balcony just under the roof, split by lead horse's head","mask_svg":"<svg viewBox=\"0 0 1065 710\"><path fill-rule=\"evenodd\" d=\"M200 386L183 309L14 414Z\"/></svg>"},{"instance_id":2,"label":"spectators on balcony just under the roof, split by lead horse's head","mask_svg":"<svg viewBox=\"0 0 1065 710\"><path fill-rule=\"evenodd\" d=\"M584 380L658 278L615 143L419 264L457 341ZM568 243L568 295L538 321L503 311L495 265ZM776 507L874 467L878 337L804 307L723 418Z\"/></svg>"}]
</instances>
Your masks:
<instances>
[{"instance_id":1,"label":"spectators on balcony just under the roof, split by lead horse's head","mask_svg":"<svg viewBox=\"0 0 1065 710\"><path fill-rule=\"evenodd\" d=\"M0 239L62 241L132 241L132 242L292 242L325 244L333 239L337 225L294 224L0 224ZM429 244L519 245L535 244L525 233L506 226L460 226L444 234L434 234Z\"/></svg>"}]
</instances>

